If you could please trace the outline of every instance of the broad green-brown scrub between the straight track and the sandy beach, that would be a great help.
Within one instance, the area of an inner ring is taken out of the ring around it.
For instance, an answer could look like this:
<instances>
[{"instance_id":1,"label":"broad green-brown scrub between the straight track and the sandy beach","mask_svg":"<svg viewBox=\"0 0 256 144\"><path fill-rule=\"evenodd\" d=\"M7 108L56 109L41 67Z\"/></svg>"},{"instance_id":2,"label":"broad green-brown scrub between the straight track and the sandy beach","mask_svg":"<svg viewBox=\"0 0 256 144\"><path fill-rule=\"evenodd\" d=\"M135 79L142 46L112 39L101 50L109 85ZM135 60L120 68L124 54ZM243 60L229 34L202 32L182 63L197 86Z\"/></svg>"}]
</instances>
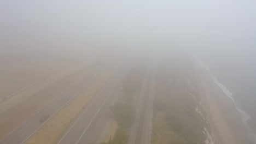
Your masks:
<instances>
[{"instance_id":1,"label":"broad green-brown scrub between the straight track and the sandy beach","mask_svg":"<svg viewBox=\"0 0 256 144\"><path fill-rule=\"evenodd\" d=\"M155 79L152 143L205 143L203 130L208 125L196 112L200 94L191 63L185 59L173 63L161 60Z\"/></svg>"}]
</instances>

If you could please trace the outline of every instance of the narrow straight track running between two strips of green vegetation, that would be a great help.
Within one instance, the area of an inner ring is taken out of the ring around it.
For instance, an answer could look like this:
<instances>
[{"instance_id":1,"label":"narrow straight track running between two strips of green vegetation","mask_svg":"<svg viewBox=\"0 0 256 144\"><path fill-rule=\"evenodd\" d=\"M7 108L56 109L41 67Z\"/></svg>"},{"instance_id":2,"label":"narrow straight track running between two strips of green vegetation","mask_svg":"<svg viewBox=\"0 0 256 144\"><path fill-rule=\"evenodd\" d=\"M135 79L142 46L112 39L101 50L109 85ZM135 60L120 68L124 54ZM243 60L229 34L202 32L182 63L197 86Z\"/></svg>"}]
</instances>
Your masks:
<instances>
[{"instance_id":1,"label":"narrow straight track running between two strips of green vegetation","mask_svg":"<svg viewBox=\"0 0 256 144\"><path fill-rule=\"evenodd\" d=\"M135 123L132 125L129 144L151 143L153 100L155 96L154 71L155 61L151 59L137 101Z\"/></svg>"}]
</instances>

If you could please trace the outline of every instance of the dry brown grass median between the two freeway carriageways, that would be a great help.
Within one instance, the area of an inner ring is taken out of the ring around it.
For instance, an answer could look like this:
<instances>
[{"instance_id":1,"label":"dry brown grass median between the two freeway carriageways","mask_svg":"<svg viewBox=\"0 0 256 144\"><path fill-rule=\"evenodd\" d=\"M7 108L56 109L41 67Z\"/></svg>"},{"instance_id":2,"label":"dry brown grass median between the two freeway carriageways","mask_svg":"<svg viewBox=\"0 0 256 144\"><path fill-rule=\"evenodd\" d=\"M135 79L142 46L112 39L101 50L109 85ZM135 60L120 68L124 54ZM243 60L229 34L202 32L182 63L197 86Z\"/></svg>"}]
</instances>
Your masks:
<instances>
[{"instance_id":1,"label":"dry brown grass median between the two freeway carriageways","mask_svg":"<svg viewBox=\"0 0 256 144\"><path fill-rule=\"evenodd\" d=\"M78 97L73 99L68 105L63 107L61 111L56 113L53 118L46 122L43 127L27 141L27 144L54 143L75 117L83 111L83 107L102 89L111 75L109 71L102 74L91 86L84 89Z\"/></svg>"}]
</instances>

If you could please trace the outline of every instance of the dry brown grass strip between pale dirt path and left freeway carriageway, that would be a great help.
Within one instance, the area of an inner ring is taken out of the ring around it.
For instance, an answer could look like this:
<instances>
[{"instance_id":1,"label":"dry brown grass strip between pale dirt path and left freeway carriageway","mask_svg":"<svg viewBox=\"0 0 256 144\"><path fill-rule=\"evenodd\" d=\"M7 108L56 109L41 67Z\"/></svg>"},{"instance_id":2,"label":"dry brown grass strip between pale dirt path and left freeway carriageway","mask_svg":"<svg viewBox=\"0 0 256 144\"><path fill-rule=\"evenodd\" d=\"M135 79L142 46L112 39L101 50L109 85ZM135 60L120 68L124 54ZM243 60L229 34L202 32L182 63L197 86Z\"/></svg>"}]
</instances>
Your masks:
<instances>
[{"instance_id":1,"label":"dry brown grass strip between pale dirt path and left freeway carriageway","mask_svg":"<svg viewBox=\"0 0 256 144\"><path fill-rule=\"evenodd\" d=\"M0 139L15 130L20 124L27 121L34 113L42 110L46 105L49 105L63 93L63 90L65 91L65 89L70 88L81 76L86 75L86 73L89 73L88 69L77 71L67 76L65 79L52 83L51 86L31 95L31 97L26 98L21 103L3 113L0 113Z\"/></svg>"}]
</instances>

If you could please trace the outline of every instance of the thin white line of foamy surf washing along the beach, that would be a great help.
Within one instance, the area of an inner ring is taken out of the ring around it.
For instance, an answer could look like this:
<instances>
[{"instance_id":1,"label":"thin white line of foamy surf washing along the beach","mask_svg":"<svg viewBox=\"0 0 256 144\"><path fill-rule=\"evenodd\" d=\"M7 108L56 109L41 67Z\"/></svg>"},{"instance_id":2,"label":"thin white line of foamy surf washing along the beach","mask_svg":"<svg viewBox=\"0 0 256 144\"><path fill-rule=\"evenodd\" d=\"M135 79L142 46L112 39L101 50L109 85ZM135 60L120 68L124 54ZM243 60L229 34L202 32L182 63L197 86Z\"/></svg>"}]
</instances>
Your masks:
<instances>
[{"instance_id":1,"label":"thin white line of foamy surf washing along the beach","mask_svg":"<svg viewBox=\"0 0 256 144\"><path fill-rule=\"evenodd\" d=\"M203 64L199 58L197 58L195 55L193 55L193 58L195 59L196 63L199 64L202 68L206 69L208 74L211 75L212 80L214 81L214 83L216 83L216 85L222 89L222 91L226 94L227 97L230 98L230 100L234 103L234 105L236 106L236 110L240 113L243 124L245 125L246 129L247 129L247 136L248 139L250 141L252 141L253 143L256 144L256 131L254 131L251 127L249 127L248 125L248 120L251 119L251 116L244 110L241 109L241 106L238 105L232 95L232 92L229 91L229 89L227 89L222 83L220 83L216 77L213 76L213 74L211 73L210 69Z\"/></svg>"}]
</instances>

